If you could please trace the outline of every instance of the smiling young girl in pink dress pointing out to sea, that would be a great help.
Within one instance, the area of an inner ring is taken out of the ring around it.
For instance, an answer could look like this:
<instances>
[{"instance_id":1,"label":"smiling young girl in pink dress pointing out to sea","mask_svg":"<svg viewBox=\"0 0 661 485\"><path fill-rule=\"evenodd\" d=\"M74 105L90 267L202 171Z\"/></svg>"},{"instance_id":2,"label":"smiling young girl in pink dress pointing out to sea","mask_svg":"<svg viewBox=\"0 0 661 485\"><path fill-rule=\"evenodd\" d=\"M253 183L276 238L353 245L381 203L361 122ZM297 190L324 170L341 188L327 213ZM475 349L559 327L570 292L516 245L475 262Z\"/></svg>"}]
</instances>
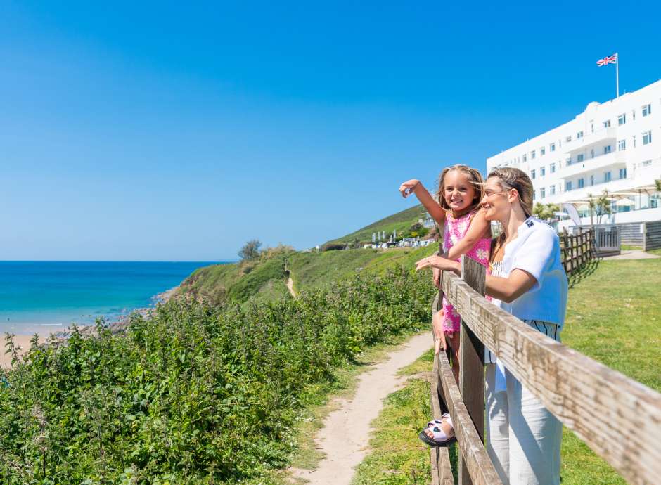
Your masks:
<instances>
[{"instance_id":1,"label":"smiling young girl in pink dress pointing out to sea","mask_svg":"<svg viewBox=\"0 0 661 485\"><path fill-rule=\"evenodd\" d=\"M484 218L484 212L479 210L483 184L482 175L476 169L466 165L454 165L454 167L446 167L441 172L437 200L434 200L428 190L416 179L402 183L399 192L404 198L411 193L416 194L439 227L444 228L444 257L458 261L462 254L466 254L480 264L488 266L491 226ZM435 280L438 274L435 271ZM443 297L443 309L432 316L435 351L446 349L449 342L452 349L452 373L457 382L460 323L460 316ZM454 441L449 415L444 415L442 421L430 422L428 428L421 433L421 439L435 446Z\"/></svg>"}]
</instances>

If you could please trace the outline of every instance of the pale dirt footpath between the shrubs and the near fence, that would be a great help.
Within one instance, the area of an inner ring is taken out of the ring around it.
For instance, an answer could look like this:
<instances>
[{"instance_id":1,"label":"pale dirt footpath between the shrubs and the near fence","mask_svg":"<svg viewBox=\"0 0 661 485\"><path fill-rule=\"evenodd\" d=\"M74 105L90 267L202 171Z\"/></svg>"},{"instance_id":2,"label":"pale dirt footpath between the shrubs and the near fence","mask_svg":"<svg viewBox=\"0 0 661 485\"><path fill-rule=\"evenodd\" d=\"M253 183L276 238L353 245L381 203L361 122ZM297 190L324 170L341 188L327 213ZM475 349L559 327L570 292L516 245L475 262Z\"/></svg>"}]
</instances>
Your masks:
<instances>
[{"instance_id":1,"label":"pale dirt footpath between the shrubs and the near fence","mask_svg":"<svg viewBox=\"0 0 661 485\"><path fill-rule=\"evenodd\" d=\"M293 470L293 476L312 485L349 485L356 467L368 453L370 422L378 417L383 399L403 387L406 376L397 371L416 361L432 347L431 332L423 332L402 344L385 361L358 377L352 399L336 399L338 410L329 414L315 438L326 455L315 470Z\"/></svg>"}]
</instances>

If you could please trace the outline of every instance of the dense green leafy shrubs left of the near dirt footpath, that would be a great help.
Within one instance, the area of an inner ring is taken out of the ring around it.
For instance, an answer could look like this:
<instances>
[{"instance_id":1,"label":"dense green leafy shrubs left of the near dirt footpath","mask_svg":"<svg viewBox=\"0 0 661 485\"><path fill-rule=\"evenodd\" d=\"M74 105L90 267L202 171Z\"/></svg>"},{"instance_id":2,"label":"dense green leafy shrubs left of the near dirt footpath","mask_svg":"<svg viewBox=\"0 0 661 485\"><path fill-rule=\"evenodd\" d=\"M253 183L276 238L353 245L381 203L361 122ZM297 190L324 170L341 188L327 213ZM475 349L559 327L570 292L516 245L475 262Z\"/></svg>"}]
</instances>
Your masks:
<instances>
[{"instance_id":1,"label":"dense green leafy shrubs left of the near dirt footpath","mask_svg":"<svg viewBox=\"0 0 661 485\"><path fill-rule=\"evenodd\" d=\"M177 299L126 335L99 323L95 337L34 341L1 371L1 481L233 483L283 467L305 389L417 328L434 291L398 269L278 302Z\"/></svg>"}]
</instances>

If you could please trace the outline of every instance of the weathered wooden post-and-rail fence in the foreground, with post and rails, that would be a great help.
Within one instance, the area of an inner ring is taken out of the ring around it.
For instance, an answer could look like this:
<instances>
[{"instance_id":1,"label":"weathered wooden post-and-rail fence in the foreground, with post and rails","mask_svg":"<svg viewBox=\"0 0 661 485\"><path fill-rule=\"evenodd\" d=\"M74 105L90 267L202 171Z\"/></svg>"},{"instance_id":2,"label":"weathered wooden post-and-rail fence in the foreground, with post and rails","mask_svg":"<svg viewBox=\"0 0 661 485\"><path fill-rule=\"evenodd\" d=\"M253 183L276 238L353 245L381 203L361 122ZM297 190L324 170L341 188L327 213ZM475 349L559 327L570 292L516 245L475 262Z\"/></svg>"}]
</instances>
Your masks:
<instances>
[{"instance_id":1,"label":"weathered wooden post-and-rail fence in the foreground, with post and rails","mask_svg":"<svg viewBox=\"0 0 661 485\"><path fill-rule=\"evenodd\" d=\"M484 448L484 346L624 479L660 483L661 394L494 306L483 296L484 266L466 257L461 266L462 278L444 271L441 280L441 292L461 315L459 384L448 355L439 352L431 393L434 418L447 409L454 422L458 483L502 483ZM453 485L448 448L430 448L430 454L432 484Z\"/></svg>"}]
</instances>

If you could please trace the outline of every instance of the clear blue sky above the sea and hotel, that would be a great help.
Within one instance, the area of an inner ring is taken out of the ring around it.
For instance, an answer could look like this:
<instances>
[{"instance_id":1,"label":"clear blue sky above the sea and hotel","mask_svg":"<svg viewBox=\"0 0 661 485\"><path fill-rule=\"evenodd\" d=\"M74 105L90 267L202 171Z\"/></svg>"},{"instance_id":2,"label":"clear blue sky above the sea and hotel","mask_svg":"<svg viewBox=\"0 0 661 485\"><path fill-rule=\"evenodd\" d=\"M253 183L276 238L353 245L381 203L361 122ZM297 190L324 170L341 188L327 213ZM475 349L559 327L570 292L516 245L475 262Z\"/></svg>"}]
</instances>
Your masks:
<instances>
[{"instance_id":1,"label":"clear blue sky above the sea and hotel","mask_svg":"<svg viewBox=\"0 0 661 485\"><path fill-rule=\"evenodd\" d=\"M612 98L598 58L661 77L657 1L444 3L3 2L0 259L311 247Z\"/></svg>"}]
</instances>

